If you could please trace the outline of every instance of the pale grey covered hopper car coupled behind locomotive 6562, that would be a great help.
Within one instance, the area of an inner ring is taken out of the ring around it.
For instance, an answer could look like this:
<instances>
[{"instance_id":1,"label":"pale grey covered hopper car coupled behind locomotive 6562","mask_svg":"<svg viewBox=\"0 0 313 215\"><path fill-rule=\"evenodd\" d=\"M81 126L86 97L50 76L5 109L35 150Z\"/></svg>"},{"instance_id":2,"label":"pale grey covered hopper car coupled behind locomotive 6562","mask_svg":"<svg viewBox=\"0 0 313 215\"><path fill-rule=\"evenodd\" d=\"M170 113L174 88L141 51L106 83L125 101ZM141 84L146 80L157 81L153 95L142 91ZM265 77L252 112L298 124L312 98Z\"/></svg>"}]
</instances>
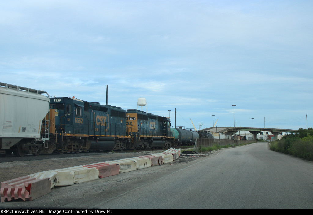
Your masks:
<instances>
[{"instance_id":1,"label":"pale grey covered hopper car coupled behind locomotive 6562","mask_svg":"<svg viewBox=\"0 0 313 215\"><path fill-rule=\"evenodd\" d=\"M40 133L49 111L49 94L0 83L0 155L40 154L49 133ZM44 131L46 128L44 128Z\"/></svg>"}]
</instances>

